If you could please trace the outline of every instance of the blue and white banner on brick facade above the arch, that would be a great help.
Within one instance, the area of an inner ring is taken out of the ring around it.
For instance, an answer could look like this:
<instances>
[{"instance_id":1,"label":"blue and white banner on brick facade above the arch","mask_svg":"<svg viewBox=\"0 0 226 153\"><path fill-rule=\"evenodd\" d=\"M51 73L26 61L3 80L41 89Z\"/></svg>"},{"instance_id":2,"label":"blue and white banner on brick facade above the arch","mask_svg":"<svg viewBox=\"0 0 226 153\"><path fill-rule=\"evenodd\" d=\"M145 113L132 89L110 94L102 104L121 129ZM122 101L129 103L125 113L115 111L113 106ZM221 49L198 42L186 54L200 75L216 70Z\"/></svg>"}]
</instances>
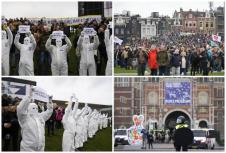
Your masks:
<instances>
[{"instance_id":1,"label":"blue and white banner on brick facade above the arch","mask_svg":"<svg viewBox=\"0 0 226 153\"><path fill-rule=\"evenodd\" d=\"M190 81L165 82L165 104L190 105L191 103Z\"/></svg>"}]
</instances>

